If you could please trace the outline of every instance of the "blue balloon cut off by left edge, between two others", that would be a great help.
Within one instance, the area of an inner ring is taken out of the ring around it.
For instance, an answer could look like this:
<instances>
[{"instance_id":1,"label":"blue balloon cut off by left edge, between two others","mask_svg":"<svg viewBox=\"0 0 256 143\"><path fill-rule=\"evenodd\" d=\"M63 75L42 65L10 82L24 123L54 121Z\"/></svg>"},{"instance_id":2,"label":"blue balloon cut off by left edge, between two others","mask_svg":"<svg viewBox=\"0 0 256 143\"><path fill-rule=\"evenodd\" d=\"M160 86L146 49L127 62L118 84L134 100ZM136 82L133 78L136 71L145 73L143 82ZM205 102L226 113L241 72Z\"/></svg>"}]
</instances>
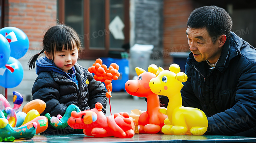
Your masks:
<instances>
[{"instance_id":1,"label":"blue balloon cut off by left edge, between two others","mask_svg":"<svg viewBox=\"0 0 256 143\"><path fill-rule=\"evenodd\" d=\"M7 39L0 34L0 67L3 67L11 54L10 45Z\"/></svg>"}]
</instances>

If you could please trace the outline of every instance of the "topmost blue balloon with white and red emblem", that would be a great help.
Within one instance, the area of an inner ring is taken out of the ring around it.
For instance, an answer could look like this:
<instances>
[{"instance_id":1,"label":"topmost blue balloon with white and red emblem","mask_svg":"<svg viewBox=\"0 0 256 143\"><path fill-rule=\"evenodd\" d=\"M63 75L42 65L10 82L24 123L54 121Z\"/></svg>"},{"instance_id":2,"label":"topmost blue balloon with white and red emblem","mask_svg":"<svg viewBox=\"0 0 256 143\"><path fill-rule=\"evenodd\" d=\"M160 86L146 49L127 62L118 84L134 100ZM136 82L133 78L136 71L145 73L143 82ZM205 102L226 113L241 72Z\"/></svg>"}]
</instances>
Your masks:
<instances>
[{"instance_id":1,"label":"topmost blue balloon with white and red emblem","mask_svg":"<svg viewBox=\"0 0 256 143\"><path fill-rule=\"evenodd\" d=\"M11 57L19 59L23 57L29 49L29 38L19 28L4 27L0 29L0 34L8 40L11 48Z\"/></svg>"}]
</instances>

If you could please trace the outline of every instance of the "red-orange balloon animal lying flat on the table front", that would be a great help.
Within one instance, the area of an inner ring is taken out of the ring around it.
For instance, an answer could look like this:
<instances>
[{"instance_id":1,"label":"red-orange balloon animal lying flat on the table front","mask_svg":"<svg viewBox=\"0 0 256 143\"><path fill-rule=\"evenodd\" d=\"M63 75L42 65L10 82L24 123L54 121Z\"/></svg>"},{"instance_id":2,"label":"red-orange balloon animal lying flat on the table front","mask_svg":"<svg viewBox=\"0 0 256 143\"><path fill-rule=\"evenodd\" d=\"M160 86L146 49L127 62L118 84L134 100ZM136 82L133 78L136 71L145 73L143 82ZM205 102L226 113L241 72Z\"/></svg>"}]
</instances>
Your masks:
<instances>
[{"instance_id":1,"label":"red-orange balloon animal lying flat on the table front","mask_svg":"<svg viewBox=\"0 0 256 143\"><path fill-rule=\"evenodd\" d=\"M134 136L134 123L127 112L115 113L114 116L105 116L102 104L97 102L95 108L76 113L71 112L68 125L74 129L84 129L85 135L95 137L115 136L131 138Z\"/></svg>"}]
</instances>

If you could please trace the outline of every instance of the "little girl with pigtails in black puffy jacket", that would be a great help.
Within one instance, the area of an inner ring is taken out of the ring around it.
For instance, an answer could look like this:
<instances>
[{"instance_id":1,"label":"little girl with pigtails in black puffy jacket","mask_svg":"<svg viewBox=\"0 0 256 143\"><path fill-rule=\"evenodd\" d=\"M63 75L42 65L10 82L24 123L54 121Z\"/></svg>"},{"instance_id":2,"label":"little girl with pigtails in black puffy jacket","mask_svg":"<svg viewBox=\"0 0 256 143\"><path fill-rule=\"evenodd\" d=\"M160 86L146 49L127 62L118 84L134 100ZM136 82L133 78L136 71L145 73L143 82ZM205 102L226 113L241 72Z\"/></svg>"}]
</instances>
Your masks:
<instances>
[{"instance_id":1,"label":"little girl with pigtails in black puffy jacket","mask_svg":"<svg viewBox=\"0 0 256 143\"><path fill-rule=\"evenodd\" d=\"M96 81L88 70L77 62L81 42L77 32L68 26L57 25L49 28L43 38L43 49L34 55L28 65L35 68L36 78L32 88L32 99L41 99L46 109L41 115L64 115L70 104L75 104L81 111L95 108L95 103L103 105L106 114L107 98L105 86ZM45 53L45 57L38 56ZM51 125L41 134L83 134L66 127L56 130Z\"/></svg>"}]
</instances>

